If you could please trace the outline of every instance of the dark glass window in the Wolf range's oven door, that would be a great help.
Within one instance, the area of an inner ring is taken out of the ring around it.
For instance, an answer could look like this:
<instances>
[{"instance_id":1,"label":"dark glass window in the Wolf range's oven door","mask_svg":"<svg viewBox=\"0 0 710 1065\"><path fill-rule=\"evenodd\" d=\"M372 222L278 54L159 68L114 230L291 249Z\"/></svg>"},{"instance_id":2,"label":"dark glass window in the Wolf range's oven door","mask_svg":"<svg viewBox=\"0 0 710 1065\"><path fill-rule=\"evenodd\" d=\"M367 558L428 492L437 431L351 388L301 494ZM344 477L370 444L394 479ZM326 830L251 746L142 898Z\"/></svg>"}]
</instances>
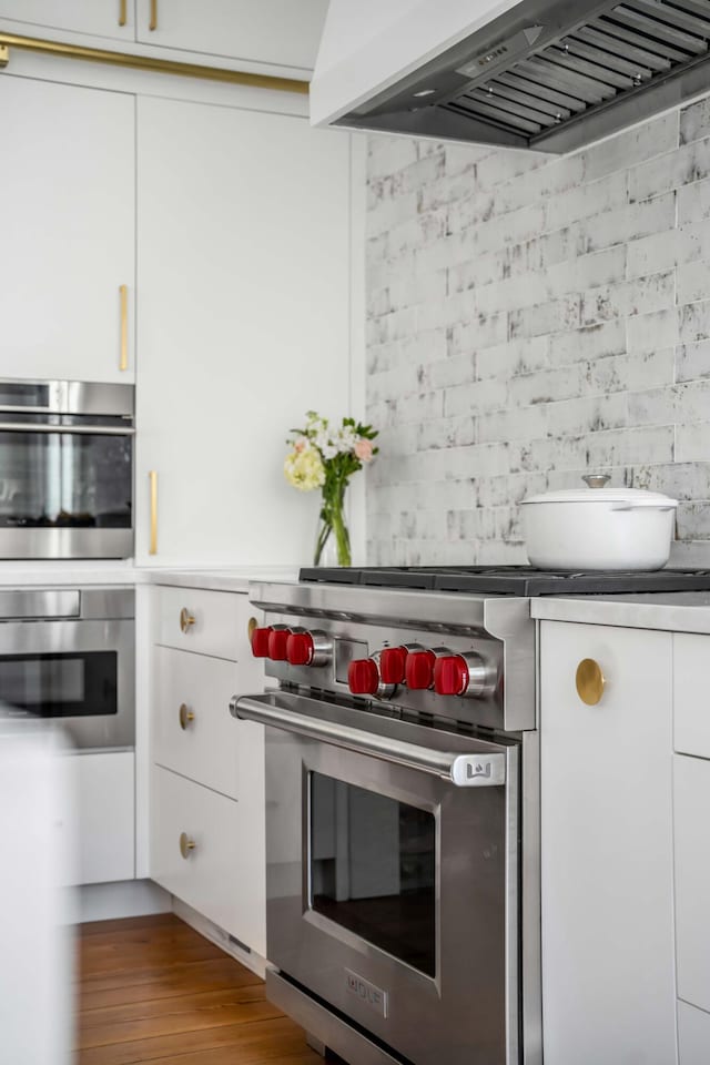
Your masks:
<instances>
[{"instance_id":1,"label":"dark glass window in the Wolf range's oven door","mask_svg":"<svg viewBox=\"0 0 710 1065\"><path fill-rule=\"evenodd\" d=\"M308 775L311 909L435 976L434 814L321 773Z\"/></svg>"}]
</instances>

